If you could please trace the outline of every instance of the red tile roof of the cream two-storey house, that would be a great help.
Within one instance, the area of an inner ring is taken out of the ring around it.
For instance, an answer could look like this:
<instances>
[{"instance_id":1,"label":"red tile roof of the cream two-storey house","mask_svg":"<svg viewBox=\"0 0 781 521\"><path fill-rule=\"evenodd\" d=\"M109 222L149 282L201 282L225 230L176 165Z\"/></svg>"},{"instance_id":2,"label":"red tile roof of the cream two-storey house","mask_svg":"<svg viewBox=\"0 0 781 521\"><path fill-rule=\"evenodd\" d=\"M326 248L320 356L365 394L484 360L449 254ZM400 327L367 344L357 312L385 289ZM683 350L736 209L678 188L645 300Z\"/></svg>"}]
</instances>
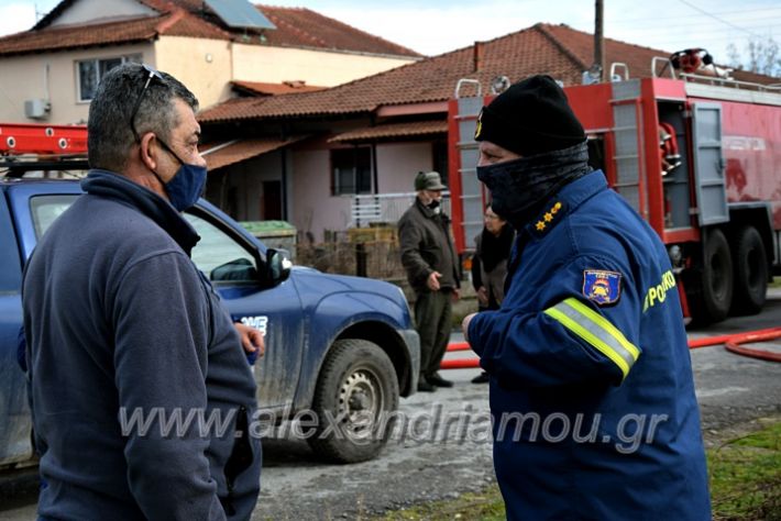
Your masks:
<instances>
[{"instance_id":1,"label":"red tile roof of the cream two-storey house","mask_svg":"<svg viewBox=\"0 0 781 521\"><path fill-rule=\"evenodd\" d=\"M302 8L256 5L276 30L261 36L252 31L232 30L213 14L204 12L201 0L140 0L157 11L157 16L106 21L85 25L52 26L75 0L59 2L31 31L0 38L0 55L116 45L154 38L158 35L230 40L246 44L307 47L375 55L419 57L411 49L374 36L338 20Z\"/></svg>"}]
</instances>

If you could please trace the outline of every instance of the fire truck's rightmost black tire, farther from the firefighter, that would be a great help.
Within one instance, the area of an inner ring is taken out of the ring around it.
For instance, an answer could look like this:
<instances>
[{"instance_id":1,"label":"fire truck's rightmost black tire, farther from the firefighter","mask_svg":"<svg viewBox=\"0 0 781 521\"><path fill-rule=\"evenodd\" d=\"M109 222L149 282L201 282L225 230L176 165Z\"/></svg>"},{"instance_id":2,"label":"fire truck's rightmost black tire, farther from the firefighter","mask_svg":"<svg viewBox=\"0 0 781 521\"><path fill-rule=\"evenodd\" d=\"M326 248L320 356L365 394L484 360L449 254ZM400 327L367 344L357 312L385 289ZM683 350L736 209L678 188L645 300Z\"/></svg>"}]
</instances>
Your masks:
<instances>
[{"instance_id":1,"label":"fire truck's rightmost black tire, farther from the firefighter","mask_svg":"<svg viewBox=\"0 0 781 521\"><path fill-rule=\"evenodd\" d=\"M762 310L768 295L768 257L762 237L754 226L744 226L735 234L735 293L733 314L756 314Z\"/></svg>"}]
</instances>

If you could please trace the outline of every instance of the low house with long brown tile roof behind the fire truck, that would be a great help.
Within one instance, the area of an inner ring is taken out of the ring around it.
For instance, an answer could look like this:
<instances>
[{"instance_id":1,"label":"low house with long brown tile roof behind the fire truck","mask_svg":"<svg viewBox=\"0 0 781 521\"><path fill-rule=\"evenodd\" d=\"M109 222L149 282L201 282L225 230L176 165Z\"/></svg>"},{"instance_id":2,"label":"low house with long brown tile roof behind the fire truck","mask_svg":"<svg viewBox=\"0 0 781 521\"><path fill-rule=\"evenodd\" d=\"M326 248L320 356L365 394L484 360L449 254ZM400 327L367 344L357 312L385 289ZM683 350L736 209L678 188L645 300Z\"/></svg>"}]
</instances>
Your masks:
<instances>
[{"instance_id":1,"label":"low house with long brown tile roof behind the fire truck","mask_svg":"<svg viewBox=\"0 0 781 521\"><path fill-rule=\"evenodd\" d=\"M470 80L464 96L475 85L487 93L502 76L514 82L548 74L580 85L593 43L588 33L540 23L324 90L228 100L199 114L217 144L206 153L208 197L240 220L283 218L322 241L327 231L358 224L356 195L410 192L419 170L444 176L447 103L459 80ZM651 76L652 58L670 52L608 38L605 55L637 78Z\"/></svg>"}]
</instances>

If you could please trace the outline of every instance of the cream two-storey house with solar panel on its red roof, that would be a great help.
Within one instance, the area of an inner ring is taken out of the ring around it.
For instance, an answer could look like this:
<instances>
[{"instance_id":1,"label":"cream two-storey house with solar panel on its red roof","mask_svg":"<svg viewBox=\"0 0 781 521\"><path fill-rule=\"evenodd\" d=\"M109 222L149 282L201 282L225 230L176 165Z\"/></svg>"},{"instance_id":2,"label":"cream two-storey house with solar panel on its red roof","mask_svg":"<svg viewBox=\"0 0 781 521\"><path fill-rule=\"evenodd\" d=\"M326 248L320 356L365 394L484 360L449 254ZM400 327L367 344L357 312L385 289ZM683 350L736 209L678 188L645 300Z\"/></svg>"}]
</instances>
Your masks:
<instances>
[{"instance_id":1,"label":"cream two-storey house with solar panel on its red roof","mask_svg":"<svg viewBox=\"0 0 781 521\"><path fill-rule=\"evenodd\" d=\"M86 121L101 75L127 60L174 75L208 108L248 91L318 90L420 59L309 9L255 5L271 22L258 29L227 22L219 3L61 1L31 30L0 37L0 121Z\"/></svg>"}]
</instances>

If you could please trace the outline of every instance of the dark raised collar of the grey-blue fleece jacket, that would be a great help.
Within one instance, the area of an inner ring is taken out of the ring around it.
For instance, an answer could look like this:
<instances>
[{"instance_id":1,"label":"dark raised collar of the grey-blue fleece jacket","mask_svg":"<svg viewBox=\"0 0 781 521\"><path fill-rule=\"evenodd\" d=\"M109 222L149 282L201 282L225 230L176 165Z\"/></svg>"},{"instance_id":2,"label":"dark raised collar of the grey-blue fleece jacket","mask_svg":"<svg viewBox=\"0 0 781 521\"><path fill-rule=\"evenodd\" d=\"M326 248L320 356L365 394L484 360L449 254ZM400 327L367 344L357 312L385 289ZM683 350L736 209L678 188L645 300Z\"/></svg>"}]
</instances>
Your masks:
<instances>
[{"instance_id":1,"label":"dark raised collar of the grey-blue fleece jacket","mask_svg":"<svg viewBox=\"0 0 781 521\"><path fill-rule=\"evenodd\" d=\"M152 219L188 256L200 241L190 223L168 201L124 176L94 168L81 179L81 189L118 201Z\"/></svg>"}]
</instances>

